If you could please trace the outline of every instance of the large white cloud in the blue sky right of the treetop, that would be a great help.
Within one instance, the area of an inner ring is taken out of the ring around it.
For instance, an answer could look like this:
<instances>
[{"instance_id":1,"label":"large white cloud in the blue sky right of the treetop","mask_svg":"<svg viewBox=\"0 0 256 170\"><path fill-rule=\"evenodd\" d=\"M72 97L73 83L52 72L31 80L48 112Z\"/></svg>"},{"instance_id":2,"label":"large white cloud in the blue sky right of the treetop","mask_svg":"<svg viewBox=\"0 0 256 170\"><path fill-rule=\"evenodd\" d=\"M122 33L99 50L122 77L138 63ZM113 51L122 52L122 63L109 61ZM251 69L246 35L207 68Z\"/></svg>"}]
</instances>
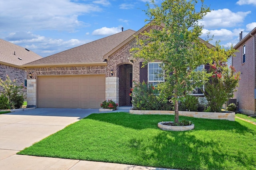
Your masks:
<instances>
[{"instance_id":1,"label":"large white cloud in the blue sky right of the treetop","mask_svg":"<svg viewBox=\"0 0 256 170\"><path fill-rule=\"evenodd\" d=\"M202 23L205 28L234 27L242 23L250 13L250 11L235 13L229 9L214 10L208 12L199 23Z\"/></svg>"}]
</instances>

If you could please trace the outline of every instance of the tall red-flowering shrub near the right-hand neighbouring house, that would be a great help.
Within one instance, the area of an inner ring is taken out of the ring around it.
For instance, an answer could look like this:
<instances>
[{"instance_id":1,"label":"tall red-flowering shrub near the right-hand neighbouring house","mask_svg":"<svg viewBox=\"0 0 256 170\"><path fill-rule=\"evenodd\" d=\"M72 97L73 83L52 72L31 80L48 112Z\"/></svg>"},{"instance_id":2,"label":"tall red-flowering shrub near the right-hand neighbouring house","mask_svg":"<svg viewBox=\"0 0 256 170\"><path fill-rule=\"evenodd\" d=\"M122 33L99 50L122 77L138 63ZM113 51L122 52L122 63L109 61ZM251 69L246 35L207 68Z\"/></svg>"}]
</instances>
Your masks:
<instances>
[{"instance_id":1,"label":"tall red-flowering shrub near the right-hand neighbouring house","mask_svg":"<svg viewBox=\"0 0 256 170\"><path fill-rule=\"evenodd\" d=\"M233 97L235 88L240 80L240 72L235 74L233 66L226 64L212 64L209 72L212 73L210 80L205 84L204 95L210 106L210 111L221 111L222 105Z\"/></svg>"}]
</instances>

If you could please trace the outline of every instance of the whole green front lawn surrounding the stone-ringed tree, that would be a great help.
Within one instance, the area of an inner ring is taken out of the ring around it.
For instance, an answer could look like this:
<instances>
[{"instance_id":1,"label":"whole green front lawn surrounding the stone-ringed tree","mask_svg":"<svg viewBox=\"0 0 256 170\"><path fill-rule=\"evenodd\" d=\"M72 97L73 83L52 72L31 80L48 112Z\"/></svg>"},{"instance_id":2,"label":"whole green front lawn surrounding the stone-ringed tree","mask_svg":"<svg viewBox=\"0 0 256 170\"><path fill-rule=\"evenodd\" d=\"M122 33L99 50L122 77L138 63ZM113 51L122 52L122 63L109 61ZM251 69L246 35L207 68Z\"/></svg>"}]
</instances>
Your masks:
<instances>
[{"instance_id":1,"label":"whole green front lawn surrounding the stone-ringed tree","mask_svg":"<svg viewBox=\"0 0 256 170\"><path fill-rule=\"evenodd\" d=\"M192 131L162 131L173 115L92 114L18 154L182 170L255 170L256 126L236 121L189 119Z\"/></svg>"}]
</instances>

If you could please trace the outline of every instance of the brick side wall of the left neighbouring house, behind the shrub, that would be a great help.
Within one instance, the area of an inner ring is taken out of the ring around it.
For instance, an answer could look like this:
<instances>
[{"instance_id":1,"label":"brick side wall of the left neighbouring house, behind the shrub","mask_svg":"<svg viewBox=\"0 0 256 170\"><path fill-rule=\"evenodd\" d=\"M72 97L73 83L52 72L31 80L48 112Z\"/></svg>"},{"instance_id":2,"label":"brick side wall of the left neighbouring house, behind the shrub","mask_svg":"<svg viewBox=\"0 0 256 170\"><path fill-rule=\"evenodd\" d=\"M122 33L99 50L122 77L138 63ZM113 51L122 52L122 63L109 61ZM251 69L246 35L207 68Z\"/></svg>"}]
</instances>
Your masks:
<instances>
[{"instance_id":1,"label":"brick side wall of the left neighbouring house, behind the shrub","mask_svg":"<svg viewBox=\"0 0 256 170\"><path fill-rule=\"evenodd\" d=\"M8 66L5 64L0 64L0 78L2 80L6 80L6 74L10 77L11 80L16 79L18 84L22 84L24 85L25 82L25 69L22 68L17 68L17 67L13 67L13 66ZM3 91L2 86L0 86L0 91ZM26 94L27 94L27 90L26 88L24 88L24 99L26 100Z\"/></svg>"}]
</instances>

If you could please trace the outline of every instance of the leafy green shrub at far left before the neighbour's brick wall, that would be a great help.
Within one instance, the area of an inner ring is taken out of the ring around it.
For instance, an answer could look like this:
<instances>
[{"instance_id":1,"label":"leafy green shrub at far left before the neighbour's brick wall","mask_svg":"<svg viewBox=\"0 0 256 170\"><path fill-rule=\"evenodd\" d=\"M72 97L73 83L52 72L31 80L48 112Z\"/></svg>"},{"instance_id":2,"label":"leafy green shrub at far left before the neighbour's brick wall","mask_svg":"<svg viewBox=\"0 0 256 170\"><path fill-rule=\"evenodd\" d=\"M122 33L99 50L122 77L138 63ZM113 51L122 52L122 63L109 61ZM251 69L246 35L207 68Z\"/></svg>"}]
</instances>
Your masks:
<instances>
[{"instance_id":1,"label":"leafy green shrub at far left before the neighbour's brick wall","mask_svg":"<svg viewBox=\"0 0 256 170\"><path fill-rule=\"evenodd\" d=\"M23 84L18 84L16 80L10 80L10 77L6 75L6 80L0 79L0 86L4 88L2 94L8 98L9 106L12 109L18 109L23 105Z\"/></svg>"}]
</instances>

